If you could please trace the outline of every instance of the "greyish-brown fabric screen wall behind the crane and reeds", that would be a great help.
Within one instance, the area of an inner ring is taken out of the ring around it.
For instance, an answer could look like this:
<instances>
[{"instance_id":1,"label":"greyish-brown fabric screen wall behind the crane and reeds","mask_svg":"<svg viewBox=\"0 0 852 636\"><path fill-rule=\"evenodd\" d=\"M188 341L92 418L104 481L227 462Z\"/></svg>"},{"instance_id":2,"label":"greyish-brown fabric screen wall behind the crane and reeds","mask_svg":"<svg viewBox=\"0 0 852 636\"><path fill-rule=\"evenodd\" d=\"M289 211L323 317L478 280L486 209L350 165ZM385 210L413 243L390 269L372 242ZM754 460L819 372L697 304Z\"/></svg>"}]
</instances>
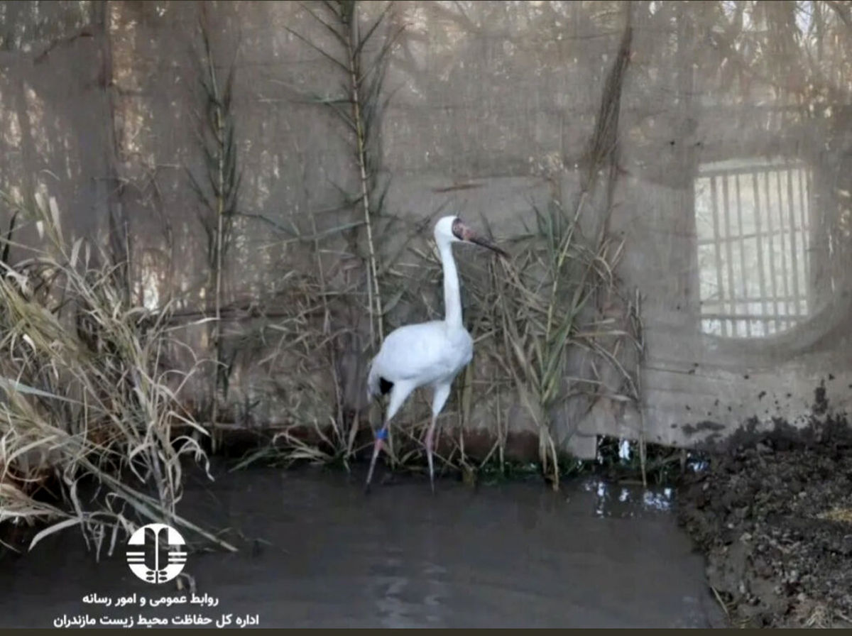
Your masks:
<instances>
[{"instance_id":1,"label":"greyish-brown fabric screen wall behind the crane and reeds","mask_svg":"<svg viewBox=\"0 0 852 636\"><path fill-rule=\"evenodd\" d=\"M638 288L644 298L643 416L624 402L578 400L554 415L554 437L582 456L594 454L596 435L636 438L642 427L649 441L693 445L724 437L751 417L801 421L812 414L822 381L831 408L845 410L852 386L843 260L852 58L838 14L812 5L803 18L791 3L392 3L366 49L369 60L404 27L372 138L379 180L389 184L377 242L385 259L407 246L394 267L419 278L394 301L389 327L440 315L439 270L428 258L426 221L433 215L485 220L510 242L533 220L533 206L546 207L554 184L561 203L573 204L630 6L617 168L600 183L612 186L609 232L625 241L619 289ZM176 298L181 311L201 311L210 301L206 238L187 180L187 170L204 175L196 135L196 116L204 112L201 5L111 2L98 5L106 6L102 14L95 5L50 6L47 20L48 9L2 3L9 28L0 67L0 180L7 189L46 189L75 232L101 243L109 215L126 220L139 300ZM318 15L325 10L306 6ZM351 203L359 185L353 138L320 103L341 95L346 77L294 33L332 54L339 44L297 3L205 7L221 78L236 60L243 214L227 259L226 304L262 307L277 317L273 323L291 320L296 330L331 324L354 334L334 341L331 358L310 358L301 344L271 344L262 320L233 318L228 416L253 424L328 421L341 413L329 388L336 377L348 396L344 405L363 406L354 397L370 353L363 304L298 320L287 312L298 284L314 284L320 264L331 288L365 294L356 254L364 232L335 230L363 213ZM359 3L362 28L385 8ZM758 41L757 49L749 44ZM776 154L812 170L809 314L764 338L703 333L699 166ZM596 215L606 207L604 195L599 188L585 213L587 229L602 223ZM322 239L296 241L294 228ZM470 258L466 284L481 280L485 267L480 256ZM204 329L187 335L198 352L205 338ZM285 351L274 356L275 347ZM294 388L294 369L305 387ZM483 362L472 377L493 381L495 373ZM510 382L498 385L477 399L469 430L493 432L498 410L510 429L533 430ZM302 398L302 391L314 397ZM448 412L458 415L455 399ZM250 412L241 410L250 402Z\"/></svg>"}]
</instances>

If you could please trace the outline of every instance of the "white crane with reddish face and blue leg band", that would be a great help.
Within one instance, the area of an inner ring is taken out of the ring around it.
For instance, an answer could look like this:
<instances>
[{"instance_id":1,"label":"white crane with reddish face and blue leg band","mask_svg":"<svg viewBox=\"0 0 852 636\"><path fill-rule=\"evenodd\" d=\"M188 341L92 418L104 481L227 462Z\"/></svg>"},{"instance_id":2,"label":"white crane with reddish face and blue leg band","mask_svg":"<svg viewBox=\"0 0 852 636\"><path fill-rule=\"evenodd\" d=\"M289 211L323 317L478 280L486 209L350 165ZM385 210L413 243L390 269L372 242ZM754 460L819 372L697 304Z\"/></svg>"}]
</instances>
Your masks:
<instances>
[{"instance_id":1,"label":"white crane with reddish face and blue leg band","mask_svg":"<svg viewBox=\"0 0 852 636\"><path fill-rule=\"evenodd\" d=\"M435 422L450 396L452 381L470 362L474 352L473 338L462 324L462 298L458 289L456 261L452 258L452 244L459 241L478 244L508 257L502 249L471 231L458 216L445 216L435 223L435 243L444 268L445 318L394 329L372 360L367 376L367 396L374 398L390 392L390 400L383 426L376 434L366 490L370 489L377 457L388 438L391 419L415 389L432 387L432 421L426 433L426 457L429 461L429 483L435 491L432 463Z\"/></svg>"}]
</instances>

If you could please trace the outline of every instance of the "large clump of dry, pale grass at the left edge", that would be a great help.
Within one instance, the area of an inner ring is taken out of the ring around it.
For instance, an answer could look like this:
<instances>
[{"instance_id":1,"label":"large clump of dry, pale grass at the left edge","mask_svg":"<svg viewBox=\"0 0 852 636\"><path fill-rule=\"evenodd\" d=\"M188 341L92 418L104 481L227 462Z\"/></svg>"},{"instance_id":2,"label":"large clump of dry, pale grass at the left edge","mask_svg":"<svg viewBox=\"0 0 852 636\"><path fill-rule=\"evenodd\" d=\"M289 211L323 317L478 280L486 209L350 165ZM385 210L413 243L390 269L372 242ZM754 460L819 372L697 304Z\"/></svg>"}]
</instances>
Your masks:
<instances>
[{"instance_id":1,"label":"large clump of dry, pale grass at the left edge","mask_svg":"<svg viewBox=\"0 0 852 636\"><path fill-rule=\"evenodd\" d=\"M41 247L5 239L26 257L0 263L0 525L43 527L30 547L78 525L89 547L110 551L118 531L159 521L204 530L176 515L183 456L204 463L204 433L181 409L189 374L164 370L168 308L128 305L114 267L95 266L82 238L63 236L54 199L27 209Z\"/></svg>"}]
</instances>

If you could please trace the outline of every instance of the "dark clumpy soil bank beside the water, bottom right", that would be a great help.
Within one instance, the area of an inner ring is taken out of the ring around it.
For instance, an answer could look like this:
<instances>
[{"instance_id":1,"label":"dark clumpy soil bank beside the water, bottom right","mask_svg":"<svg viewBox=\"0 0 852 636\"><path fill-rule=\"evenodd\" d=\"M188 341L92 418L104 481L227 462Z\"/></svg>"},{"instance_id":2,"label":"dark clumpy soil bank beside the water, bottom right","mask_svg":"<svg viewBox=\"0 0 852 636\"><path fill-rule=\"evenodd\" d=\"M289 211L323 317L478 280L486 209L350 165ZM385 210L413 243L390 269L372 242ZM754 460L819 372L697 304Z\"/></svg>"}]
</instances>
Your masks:
<instances>
[{"instance_id":1,"label":"dark clumpy soil bank beside the water, bottom right","mask_svg":"<svg viewBox=\"0 0 852 636\"><path fill-rule=\"evenodd\" d=\"M678 514L731 622L852 627L852 427L751 426L706 458Z\"/></svg>"}]
</instances>

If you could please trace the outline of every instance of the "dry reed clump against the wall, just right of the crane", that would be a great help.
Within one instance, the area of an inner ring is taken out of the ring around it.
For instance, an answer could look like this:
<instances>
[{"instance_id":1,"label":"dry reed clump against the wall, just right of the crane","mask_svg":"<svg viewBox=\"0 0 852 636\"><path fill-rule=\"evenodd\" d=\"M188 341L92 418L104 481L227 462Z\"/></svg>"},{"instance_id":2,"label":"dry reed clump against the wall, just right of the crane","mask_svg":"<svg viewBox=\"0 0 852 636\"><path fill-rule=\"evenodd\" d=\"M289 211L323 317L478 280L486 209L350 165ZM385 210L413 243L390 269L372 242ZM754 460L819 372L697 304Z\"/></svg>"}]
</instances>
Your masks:
<instances>
[{"instance_id":1,"label":"dry reed clump against the wall, just right of the crane","mask_svg":"<svg viewBox=\"0 0 852 636\"><path fill-rule=\"evenodd\" d=\"M633 304L614 273L624 241L605 232L584 235L585 199L573 213L558 198L546 210L534 209L534 225L514 238L511 264L491 264L485 293L470 287L473 319L492 335L481 356L504 375L490 382L514 392L534 422L540 467L555 487L566 441L556 433L563 407L578 398L588 408L597 399L630 402L636 393L624 356L625 342L636 342L625 314Z\"/></svg>"}]
</instances>

